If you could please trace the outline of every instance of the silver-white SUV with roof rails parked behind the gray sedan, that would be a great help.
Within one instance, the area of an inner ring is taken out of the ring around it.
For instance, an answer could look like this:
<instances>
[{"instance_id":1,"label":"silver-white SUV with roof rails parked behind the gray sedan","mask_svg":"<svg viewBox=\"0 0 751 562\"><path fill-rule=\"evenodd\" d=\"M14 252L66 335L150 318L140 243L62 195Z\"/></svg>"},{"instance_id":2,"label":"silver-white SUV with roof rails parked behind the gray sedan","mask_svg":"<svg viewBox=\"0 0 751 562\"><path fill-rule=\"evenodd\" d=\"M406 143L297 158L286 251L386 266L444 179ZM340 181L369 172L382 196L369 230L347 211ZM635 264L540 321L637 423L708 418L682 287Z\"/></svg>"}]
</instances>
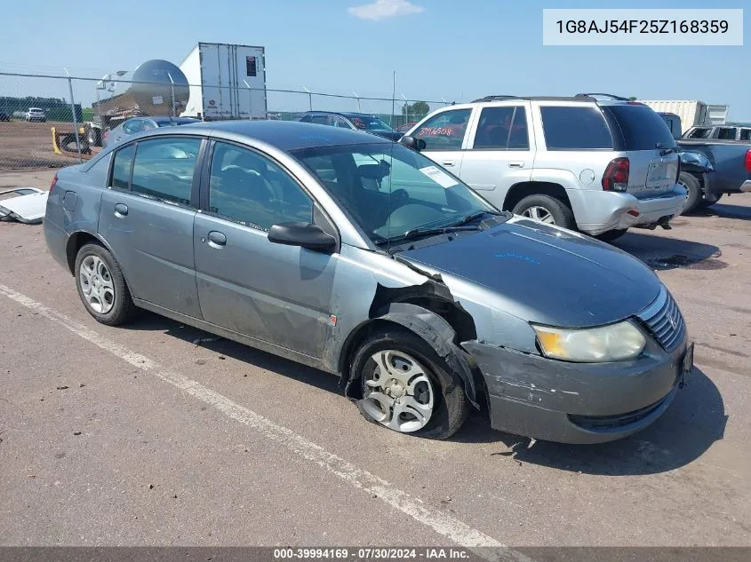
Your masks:
<instances>
[{"instance_id":1,"label":"silver-white SUV with roof rails parked behind the gray sedan","mask_svg":"<svg viewBox=\"0 0 751 562\"><path fill-rule=\"evenodd\" d=\"M638 102L490 96L439 109L407 136L499 209L613 240L679 215L675 139Z\"/></svg>"}]
</instances>

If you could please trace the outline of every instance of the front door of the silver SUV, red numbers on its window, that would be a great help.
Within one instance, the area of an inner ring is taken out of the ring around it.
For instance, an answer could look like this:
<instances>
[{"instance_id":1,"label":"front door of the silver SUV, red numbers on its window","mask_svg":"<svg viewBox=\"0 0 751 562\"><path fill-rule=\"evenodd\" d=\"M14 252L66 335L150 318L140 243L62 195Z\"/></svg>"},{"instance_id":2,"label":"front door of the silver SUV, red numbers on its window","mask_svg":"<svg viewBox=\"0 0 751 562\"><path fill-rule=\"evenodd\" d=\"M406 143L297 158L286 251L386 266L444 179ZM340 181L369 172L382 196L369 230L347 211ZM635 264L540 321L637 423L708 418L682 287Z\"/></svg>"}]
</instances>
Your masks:
<instances>
[{"instance_id":1,"label":"front door of the silver SUV, red numbers on its window","mask_svg":"<svg viewBox=\"0 0 751 562\"><path fill-rule=\"evenodd\" d=\"M425 141L422 154L459 176L471 116L471 107L447 109L428 117L411 136Z\"/></svg>"}]
</instances>

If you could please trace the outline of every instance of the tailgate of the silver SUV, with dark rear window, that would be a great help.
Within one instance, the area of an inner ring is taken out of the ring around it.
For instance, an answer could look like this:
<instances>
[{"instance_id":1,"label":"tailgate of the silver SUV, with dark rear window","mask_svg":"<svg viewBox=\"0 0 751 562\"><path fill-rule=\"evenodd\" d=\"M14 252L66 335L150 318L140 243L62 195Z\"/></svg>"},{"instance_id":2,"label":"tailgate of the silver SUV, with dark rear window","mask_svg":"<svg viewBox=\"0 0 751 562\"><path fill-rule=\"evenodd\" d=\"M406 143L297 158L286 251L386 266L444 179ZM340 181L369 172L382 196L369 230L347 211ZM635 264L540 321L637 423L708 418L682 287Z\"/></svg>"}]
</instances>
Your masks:
<instances>
[{"instance_id":1,"label":"tailgate of the silver SUV, with dark rear window","mask_svg":"<svg viewBox=\"0 0 751 562\"><path fill-rule=\"evenodd\" d=\"M672 191L678 177L675 139L651 107L638 103L603 105L614 136L629 163L627 192L647 198Z\"/></svg>"}]
</instances>

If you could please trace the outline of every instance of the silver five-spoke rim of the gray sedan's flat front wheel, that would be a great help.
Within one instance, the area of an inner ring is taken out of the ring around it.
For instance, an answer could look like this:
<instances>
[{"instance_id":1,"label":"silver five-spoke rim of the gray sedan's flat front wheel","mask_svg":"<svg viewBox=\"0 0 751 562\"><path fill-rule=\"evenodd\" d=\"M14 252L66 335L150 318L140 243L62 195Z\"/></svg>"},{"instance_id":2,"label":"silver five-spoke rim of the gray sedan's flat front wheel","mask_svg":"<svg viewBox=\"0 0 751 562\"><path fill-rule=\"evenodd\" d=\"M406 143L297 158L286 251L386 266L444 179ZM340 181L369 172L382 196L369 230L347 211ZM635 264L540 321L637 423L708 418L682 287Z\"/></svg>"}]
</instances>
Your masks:
<instances>
[{"instance_id":1,"label":"silver five-spoke rim of the gray sedan's flat front wheel","mask_svg":"<svg viewBox=\"0 0 751 562\"><path fill-rule=\"evenodd\" d=\"M408 433L425 427L433 415L433 384L427 370L410 355L386 350L371 356L363 408L377 422Z\"/></svg>"}]
</instances>

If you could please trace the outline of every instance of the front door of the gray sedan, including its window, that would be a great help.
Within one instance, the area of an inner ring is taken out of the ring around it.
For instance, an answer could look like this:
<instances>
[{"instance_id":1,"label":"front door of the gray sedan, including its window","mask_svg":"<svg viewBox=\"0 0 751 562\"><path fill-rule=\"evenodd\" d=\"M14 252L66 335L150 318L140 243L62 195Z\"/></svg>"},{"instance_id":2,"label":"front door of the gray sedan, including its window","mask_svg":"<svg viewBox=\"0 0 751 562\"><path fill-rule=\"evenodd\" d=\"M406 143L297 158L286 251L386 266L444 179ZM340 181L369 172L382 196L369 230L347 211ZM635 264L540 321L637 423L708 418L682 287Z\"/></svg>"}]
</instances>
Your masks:
<instances>
[{"instance_id":1,"label":"front door of the gray sedan, including its window","mask_svg":"<svg viewBox=\"0 0 751 562\"><path fill-rule=\"evenodd\" d=\"M196 215L198 297L204 320L309 357L331 333L337 256L268 241L268 228L313 222L314 204L268 157L217 142L208 210Z\"/></svg>"}]
</instances>

